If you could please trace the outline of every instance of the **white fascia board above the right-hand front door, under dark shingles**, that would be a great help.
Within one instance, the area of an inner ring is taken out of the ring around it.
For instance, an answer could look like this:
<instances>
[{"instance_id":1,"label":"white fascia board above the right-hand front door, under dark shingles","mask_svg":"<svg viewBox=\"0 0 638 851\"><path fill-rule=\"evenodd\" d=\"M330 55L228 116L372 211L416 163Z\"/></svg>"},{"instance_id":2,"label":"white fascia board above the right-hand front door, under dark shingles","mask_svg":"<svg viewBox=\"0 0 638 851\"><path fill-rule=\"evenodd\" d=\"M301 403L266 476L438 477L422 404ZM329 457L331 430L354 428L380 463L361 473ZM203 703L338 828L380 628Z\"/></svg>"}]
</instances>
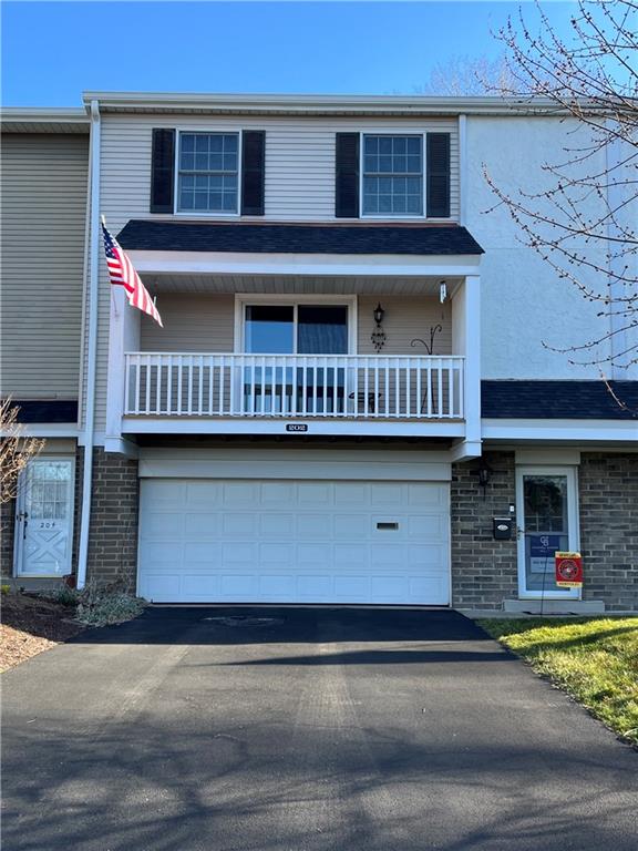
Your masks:
<instances>
[{"instance_id":1,"label":"white fascia board above the right-hand front door, under dark shingles","mask_svg":"<svg viewBox=\"0 0 638 851\"><path fill-rule=\"evenodd\" d=\"M629 420L484 419L482 435L483 440L624 441L638 449L638 422Z\"/></svg>"}]
</instances>

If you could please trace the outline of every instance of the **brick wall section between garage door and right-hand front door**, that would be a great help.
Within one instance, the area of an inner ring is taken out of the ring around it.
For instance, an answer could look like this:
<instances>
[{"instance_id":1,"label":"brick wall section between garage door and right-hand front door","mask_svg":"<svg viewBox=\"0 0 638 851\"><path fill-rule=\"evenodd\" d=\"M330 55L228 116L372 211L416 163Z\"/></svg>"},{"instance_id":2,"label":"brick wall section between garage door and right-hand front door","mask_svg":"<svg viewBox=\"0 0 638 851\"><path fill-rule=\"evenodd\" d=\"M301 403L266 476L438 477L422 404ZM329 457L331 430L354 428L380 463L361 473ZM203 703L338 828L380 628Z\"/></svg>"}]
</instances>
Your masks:
<instances>
[{"instance_id":1,"label":"brick wall section between garage door and right-hand front door","mask_svg":"<svg viewBox=\"0 0 638 851\"><path fill-rule=\"evenodd\" d=\"M478 461L452 465L452 605L501 608L518 596L516 541L494 541L495 516L508 516L516 500L514 452L485 454L490 484L478 485Z\"/></svg>"}]
</instances>

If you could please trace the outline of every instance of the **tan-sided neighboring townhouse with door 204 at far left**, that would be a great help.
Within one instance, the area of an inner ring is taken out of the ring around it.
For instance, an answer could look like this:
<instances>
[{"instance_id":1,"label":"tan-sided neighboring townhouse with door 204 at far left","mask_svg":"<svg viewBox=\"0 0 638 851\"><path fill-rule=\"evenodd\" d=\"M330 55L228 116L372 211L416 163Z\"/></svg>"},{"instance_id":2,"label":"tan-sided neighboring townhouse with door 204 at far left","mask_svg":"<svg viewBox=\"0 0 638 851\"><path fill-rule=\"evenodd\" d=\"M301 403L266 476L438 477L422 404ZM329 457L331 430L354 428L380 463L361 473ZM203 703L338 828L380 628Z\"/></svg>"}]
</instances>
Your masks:
<instances>
[{"instance_id":1,"label":"tan-sided neighboring townhouse with door 204 at far left","mask_svg":"<svg viewBox=\"0 0 638 851\"><path fill-rule=\"evenodd\" d=\"M89 135L83 109L2 110L0 396L45 439L2 502L2 574L24 585L74 566Z\"/></svg>"}]
</instances>

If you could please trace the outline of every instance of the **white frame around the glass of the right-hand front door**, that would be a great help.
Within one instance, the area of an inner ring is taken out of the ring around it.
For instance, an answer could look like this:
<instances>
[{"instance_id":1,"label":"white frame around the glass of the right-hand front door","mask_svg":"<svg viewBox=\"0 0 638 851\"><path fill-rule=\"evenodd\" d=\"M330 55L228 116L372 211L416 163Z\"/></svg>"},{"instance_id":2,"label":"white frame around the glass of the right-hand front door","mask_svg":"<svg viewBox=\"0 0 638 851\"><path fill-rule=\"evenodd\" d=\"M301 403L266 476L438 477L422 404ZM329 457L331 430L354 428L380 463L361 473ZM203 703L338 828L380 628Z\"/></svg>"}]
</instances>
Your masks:
<instances>
[{"instance_id":1,"label":"white frame around the glass of the right-hand front door","mask_svg":"<svg viewBox=\"0 0 638 851\"><path fill-rule=\"evenodd\" d=\"M580 527L578 523L578 470L573 465L549 466L546 464L526 464L516 466L516 516L525 523L525 504L523 478L525 475L565 475L567 479L567 522L569 526L569 550L580 548ZM527 591L525 573L525 534L524 525L517 533L516 556L518 564L518 598L519 599L580 599L582 588L549 588L547 591ZM585 572L586 572L585 567ZM587 575L585 573L585 581Z\"/></svg>"}]
</instances>

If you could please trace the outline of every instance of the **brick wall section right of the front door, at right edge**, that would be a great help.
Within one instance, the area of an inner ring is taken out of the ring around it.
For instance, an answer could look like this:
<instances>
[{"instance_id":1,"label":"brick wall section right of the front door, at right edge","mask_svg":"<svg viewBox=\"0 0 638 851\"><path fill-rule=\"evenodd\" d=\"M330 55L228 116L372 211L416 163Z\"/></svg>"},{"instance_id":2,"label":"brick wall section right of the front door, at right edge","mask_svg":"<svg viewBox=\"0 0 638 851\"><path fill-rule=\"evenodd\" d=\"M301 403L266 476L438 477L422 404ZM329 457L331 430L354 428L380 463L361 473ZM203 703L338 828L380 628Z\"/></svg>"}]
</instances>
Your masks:
<instances>
[{"instance_id":1,"label":"brick wall section right of the front door, at right edge","mask_svg":"<svg viewBox=\"0 0 638 851\"><path fill-rule=\"evenodd\" d=\"M583 597L638 609L638 454L583 452L578 480Z\"/></svg>"}]
</instances>

